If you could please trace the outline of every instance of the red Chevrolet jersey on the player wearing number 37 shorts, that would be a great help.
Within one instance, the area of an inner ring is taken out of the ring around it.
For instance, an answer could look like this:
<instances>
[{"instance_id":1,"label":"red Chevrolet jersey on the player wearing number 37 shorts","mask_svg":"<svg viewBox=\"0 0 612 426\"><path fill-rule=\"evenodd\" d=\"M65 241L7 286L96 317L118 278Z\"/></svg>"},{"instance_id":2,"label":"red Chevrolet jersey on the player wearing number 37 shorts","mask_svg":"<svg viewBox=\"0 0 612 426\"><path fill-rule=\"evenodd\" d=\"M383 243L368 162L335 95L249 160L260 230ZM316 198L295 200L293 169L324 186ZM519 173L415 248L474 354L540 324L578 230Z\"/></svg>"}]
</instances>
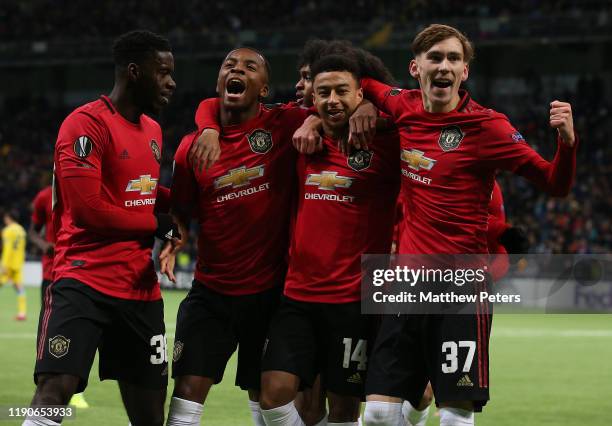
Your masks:
<instances>
[{"instance_id":1,"label":"red Chevrolet jersey on the player wearing number 37 shorts","mask_svg":"<svg viewBox=\"0 0 612 426\"><path fill-rule=\"evenodd\" d=\"M408 220L400 253L487 253L487 207L498 169L522 175L553 195L569 192L576 146L559 142L549 163L505 115L483 108L465 91L455 110L430 113L423 108L420 90L392 88L371 79L364 79L362 87L400 131Z\"/></svg>"}]
</instances>

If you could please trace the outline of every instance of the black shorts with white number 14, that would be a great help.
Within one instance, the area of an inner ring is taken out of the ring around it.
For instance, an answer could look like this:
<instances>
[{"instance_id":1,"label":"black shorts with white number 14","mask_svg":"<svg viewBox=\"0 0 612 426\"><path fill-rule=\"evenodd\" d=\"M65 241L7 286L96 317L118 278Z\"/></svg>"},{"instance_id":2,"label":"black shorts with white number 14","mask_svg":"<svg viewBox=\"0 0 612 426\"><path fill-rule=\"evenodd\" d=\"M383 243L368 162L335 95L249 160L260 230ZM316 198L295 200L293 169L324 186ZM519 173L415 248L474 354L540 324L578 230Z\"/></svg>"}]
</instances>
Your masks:
<instances>
[{"instance_id":1,"label":"black shorts with white number 14","mask_svg":"<svg viewBox=\"0 0 612 426\"><path fill-rule=\"evenodd\" d=\"M328 304L283 297L272 321L262 370L280 370L311 386L321 374L324 389L363 398L375 317L360 302Z\"/></svg>"}]
</instances>

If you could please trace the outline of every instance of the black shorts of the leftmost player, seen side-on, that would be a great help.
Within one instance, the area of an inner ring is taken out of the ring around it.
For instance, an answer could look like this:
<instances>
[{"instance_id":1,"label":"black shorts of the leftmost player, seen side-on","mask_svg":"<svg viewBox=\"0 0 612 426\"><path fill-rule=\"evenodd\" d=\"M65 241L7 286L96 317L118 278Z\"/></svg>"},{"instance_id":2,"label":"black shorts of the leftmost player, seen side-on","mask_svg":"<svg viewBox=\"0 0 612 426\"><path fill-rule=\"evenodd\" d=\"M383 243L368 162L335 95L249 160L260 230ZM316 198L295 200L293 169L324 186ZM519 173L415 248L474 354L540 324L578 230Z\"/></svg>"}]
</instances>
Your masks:
<instances>
[{"instance_id":1,"label":"black shorts of the leftmost player, seen side-on","mask_svg":"<svg viewBox=\"0 0 612 426\"><path fill-rule=\"evenodd\" d=\"M119 299L73 279L51 284L40 310L34 382L39 374L79 377L87 386L96 350L100 380L151 389L168 385L164 302Z\"/></svg>"}]
</instances>

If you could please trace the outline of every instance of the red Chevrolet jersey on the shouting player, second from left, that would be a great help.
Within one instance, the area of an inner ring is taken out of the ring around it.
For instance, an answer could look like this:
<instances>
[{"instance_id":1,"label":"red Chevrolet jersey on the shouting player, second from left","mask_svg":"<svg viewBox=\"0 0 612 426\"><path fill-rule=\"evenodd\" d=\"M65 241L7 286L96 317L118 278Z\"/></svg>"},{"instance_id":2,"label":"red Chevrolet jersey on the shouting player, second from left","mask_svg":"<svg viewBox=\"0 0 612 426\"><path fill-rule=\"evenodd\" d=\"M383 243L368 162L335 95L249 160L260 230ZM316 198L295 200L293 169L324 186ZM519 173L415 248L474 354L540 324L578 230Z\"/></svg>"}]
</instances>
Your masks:
<instances>
[{"instance_id":1,"label":"red Chevrolet jersey on the shouting player, second from left","mask_svg":"<svg viewBox=\"0 0 612 426\"><path fill-rule=\"evenodd\" d=\"M218 101L210 107L207 119L214 121L209 115ZM282 284L297 184L291 138L306 114L297 107L261 106L253 119L223 127L221 157L201 173L188 160L196 134L181 141L172 203L194 206L200 225L195 278L214 291L245 295Z\"/></svg>"}]
</instances>

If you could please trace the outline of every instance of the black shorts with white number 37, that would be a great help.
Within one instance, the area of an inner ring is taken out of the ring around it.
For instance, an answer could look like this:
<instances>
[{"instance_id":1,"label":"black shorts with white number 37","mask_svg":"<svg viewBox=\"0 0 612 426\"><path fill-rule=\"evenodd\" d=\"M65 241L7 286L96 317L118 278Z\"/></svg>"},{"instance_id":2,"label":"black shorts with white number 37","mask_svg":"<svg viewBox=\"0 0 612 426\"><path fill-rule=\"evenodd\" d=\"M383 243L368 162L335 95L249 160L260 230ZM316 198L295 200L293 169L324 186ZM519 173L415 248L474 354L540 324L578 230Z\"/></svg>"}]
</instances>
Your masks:
<instances>
[{"instance_id":1,"label":"black shorts with white number 37","mask_svg":"<svg viewBox=\"0 0 612 426\"><path fill-rule=\"evenodd\" d=\"M368 395L418 406L431 381L436 403L489 400L492 305L476 315L385 315L370 358Z\"/></svg>"}]
</instances>

